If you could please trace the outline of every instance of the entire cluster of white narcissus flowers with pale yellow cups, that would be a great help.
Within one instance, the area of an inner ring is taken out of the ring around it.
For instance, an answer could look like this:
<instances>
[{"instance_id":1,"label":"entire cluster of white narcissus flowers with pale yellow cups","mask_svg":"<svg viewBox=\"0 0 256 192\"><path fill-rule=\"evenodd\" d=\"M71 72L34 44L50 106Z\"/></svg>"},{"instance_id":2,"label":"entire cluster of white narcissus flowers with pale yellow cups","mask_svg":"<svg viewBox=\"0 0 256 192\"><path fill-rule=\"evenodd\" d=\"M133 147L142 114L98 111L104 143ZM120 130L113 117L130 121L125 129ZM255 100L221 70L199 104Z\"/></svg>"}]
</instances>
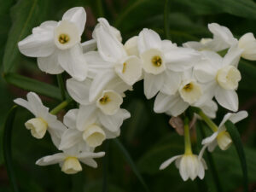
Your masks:
<instances>
[{"instance_id":1,"label":"entire cluster of white narcissus flowers with pale yellow cups","mask_svg":"<svg viewBox=\"0 0 256 192\"><path fill-rule=\"evenodd\" d=\"M96 153L95 148L106 139L119 137L121 125L132 115L121 108L125 91L131 91L133 84L143 80L146 98L155 96L155 113L183 118L184 154L166 160L160 170L175 161L184 181L202 179L207 169L202 158L205 149L212 152L217 145L222 150L229 148L232 139L224 123L236 123L247 117L245 111L236 113L236 90L241 80L237 67L241 57L256 60L253 33L238 40L227 27L212 23L208 28L213 38L178 46L144 28L123 44L119 30L99 18L93 38L81 43L85 22L84 8L69 9L60 21L45 21L18 44L23 55L38 59L43 72L67 72L67 92L79 104L67 111L61 121L35 93L29 92L27 101L15 99L15 103L35 115L25 124L32 136L41 139L48 131L61 151L41 158L37 165L59 163L61 171L67 174L82 171L80 163L96 167L94 158L105 153ZM227 113L219 126L212 122L218 104L233 112ZM191 108L196 108L195 117L205 120L212 129L212 136L202 140L199 155L192 152L191 119L184 115Z\"/></svg>"}]
</instances>

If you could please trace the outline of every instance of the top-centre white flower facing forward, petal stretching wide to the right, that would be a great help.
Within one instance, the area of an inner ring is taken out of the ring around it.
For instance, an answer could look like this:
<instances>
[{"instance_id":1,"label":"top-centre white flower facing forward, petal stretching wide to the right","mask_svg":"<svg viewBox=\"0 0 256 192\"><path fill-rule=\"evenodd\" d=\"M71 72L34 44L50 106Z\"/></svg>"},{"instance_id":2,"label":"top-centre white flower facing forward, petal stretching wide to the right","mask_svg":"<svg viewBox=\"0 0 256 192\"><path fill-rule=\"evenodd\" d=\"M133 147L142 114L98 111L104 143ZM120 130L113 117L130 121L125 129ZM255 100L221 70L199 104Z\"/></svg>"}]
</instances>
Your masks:
<instances>
[{"instance_id":1,"label":"top-centre white flower facing forward, petal stretching wide to the right","mask_svg":"<svg viewBox=\"0 0 256 192\"><path fill-rule=\"evenodd\" d=\"M195 65L200 55L194 49L179 48L159 34L143 29L137 38L137 49L143 60L144 94L149 99L160 90L173 95L181 83L181 73Z\"/></svg>"}]
</instances>

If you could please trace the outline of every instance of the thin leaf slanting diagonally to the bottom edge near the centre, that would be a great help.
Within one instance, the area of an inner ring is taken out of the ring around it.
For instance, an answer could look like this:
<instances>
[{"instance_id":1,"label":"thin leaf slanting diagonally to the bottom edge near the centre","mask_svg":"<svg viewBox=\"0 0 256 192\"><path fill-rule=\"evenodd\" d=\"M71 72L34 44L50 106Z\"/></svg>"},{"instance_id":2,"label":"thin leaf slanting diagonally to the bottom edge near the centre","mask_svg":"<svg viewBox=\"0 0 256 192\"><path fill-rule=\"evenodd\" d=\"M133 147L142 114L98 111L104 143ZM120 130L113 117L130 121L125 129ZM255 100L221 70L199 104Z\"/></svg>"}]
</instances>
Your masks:
<instances>
[{"instance_id":1,"label":"thin leaf slanting diagonally to the bottom edge near the centre","mask_svg":"<svg viewBox=\"0 0 256 192\"><path fill-rule=\"evenodd\" d=\"M127 162L130 164L132 171L135 173L137 176L138 180L143 184L143 187L146 191L149 191L148 185L145 183L142 175L140 172L137 170L137 167L135 166L134 161L131 159L131 155L128 153L128 151L125 149L124 145L119 142L119 139L115 138L113 139L114 143L119 147L120 151L124 154L125 159Z\"/></svg>"}]
</instances>

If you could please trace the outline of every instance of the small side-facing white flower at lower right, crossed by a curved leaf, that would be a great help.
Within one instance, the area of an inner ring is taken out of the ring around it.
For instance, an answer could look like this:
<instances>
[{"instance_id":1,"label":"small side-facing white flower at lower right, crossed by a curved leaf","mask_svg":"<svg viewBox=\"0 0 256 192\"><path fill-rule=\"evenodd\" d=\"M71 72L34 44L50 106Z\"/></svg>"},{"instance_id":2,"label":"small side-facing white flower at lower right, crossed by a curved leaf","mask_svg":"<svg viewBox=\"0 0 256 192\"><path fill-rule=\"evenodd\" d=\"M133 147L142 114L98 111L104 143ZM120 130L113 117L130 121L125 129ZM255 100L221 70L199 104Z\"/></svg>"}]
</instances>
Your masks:
<instances>
[{"instance_id":1,"label":"small side-facing white flower at lower right, crossed by a curved leaf","mask_svg":"<svg viewBox=\"0 0 256 192\"><path fill-rule=\"evenodd\" d=\"M213 151L214 148L218 145L218 147L222 150L226 150L230 147L232 143L232 139L230 138L230 134L226 131L225 122L230 120L233 124L236 124L238 121L247 118L248 113L246 111L240 111L238 113L227 113L224 116L224 119L218 125L218 130L214 131L212 136L207 137L202 140L203 148L208 148L209 151ZM201 150L203 153L203 150ZM201 154L202 155L202 154Z\"/></svg>"}]
</instances>

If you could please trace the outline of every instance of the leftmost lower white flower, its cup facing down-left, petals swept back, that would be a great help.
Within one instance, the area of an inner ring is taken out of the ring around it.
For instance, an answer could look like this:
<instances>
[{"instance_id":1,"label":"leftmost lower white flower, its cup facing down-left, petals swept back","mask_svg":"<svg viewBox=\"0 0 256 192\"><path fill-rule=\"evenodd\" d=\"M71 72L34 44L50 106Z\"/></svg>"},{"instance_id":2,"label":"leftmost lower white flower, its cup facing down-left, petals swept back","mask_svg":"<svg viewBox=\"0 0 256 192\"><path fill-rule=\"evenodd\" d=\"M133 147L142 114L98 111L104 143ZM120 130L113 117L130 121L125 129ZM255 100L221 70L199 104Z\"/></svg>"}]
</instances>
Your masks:
<instances>
[{"instance_id":1,"label":"leftmost lower white flower, its cup facing down-left, petals swept back","mask_svg":"<svg viewBox=\"0 0 256 192\"><path fill-rule=\"evenodd\" d=\"M26 95L27 101L21 98L15 99L15 103L26 108L35 118L26 121L26 129L30 130L33 137L43 138L46 131L49 131L51 139L56 146L61 142L61 136L67 130L66 126L59 121L55 115L49 113L39 96L33 92Z\"/></svg>"}]
</instances>

